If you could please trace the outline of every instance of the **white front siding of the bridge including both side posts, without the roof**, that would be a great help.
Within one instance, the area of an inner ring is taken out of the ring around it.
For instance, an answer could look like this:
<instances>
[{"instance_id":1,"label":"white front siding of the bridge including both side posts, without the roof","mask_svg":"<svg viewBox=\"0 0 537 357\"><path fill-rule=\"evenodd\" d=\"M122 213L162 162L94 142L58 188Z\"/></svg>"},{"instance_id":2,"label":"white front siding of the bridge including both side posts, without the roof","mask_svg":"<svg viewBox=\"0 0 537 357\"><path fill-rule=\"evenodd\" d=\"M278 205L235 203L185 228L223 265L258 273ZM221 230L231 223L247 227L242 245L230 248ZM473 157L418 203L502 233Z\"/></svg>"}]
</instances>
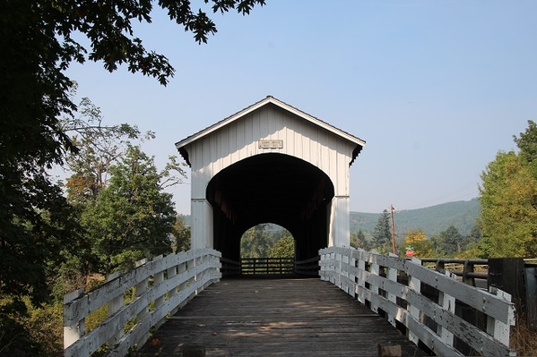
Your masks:
<instances>
[{"instance_id":1,"label":"white front siding of the bridge including both side posts, without the roof","mask_svg":"<svg viewBox=\"0 0 537 357\"><path fill-rule=\"evenodd\" d=\"M281 149L259 149L258 140L283 140ZM349 246L349 164L357 143L281 107L262 106L185 145L192 166L192 247L212 248L212 207L207 185L215 174L247 157L280 153L298 157L330 177L330 246Z\"/></svg>"}]
</instances>

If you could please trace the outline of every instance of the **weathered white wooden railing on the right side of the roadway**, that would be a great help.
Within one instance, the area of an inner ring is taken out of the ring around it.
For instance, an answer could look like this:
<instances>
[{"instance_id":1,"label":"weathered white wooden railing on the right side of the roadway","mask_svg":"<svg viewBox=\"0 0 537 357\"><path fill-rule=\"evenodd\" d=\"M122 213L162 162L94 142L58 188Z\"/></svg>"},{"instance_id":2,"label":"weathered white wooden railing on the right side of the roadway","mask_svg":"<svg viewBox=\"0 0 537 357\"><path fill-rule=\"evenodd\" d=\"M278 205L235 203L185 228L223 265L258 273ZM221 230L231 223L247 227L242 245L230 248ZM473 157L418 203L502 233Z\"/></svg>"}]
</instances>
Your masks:
<instances>
[{"instance_id":1,"label":"weathered white wooden railing on the right side of the roadway","mask_svg":"<svg viewBox=\"0 0 537 357\"><path fill-rule=\"evenodd\" d=\"M509 330L515 325L515 307L509 294L464 284L449 272L422 267L419 259L339 247L321 250L319 255L321 279L405 330L415 344L421 341L437 355L463 356L459 350L463 344L472 348L473 354L515 355L509 348ZM424 287L436 290L436 297L422 294ZM474 326L457 316L457 302L481 311L484 326Z\"/></svg>"}]
</instances>

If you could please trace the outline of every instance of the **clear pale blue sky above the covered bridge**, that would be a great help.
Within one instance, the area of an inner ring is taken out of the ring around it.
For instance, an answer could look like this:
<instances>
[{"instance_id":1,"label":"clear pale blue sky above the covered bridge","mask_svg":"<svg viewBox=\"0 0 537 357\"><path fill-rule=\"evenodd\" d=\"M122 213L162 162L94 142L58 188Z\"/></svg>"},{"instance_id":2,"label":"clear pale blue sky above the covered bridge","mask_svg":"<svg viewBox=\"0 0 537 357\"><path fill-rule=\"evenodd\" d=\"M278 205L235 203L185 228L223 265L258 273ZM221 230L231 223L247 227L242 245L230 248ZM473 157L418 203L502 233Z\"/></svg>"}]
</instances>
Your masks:
<instances>
[{"instance_id":1,"label":"clear pale blue sky above the covered bridge","mask_svg":"<svg viewBox=\"0 0 537 357\"><path fill-rule=\"evenodd\" d=\"M68 75L106 123L156 132L143 149L160 167L178 140L272 95L366 140L352 211L422 208L477 197L498 150L537 121L536 13L533 0L266 0L213 15L198 45L155 12L135 30L175 67L167 87L99 63ZM188 180L173 193L189 214Z\"/></svg>"}]
</instances>

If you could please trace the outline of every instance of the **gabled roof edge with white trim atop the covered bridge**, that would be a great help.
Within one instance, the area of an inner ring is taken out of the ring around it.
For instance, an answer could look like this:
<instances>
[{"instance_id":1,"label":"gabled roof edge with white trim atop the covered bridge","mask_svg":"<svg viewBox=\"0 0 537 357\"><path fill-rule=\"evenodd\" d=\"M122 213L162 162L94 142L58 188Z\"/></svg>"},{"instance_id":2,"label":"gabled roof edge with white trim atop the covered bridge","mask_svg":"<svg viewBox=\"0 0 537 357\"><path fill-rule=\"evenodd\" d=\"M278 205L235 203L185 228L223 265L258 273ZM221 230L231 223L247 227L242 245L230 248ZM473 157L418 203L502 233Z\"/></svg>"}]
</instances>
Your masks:
<instances>
[{"instance_id":1,"label":"gabled roof edge with white trim atop the covered bridge","mask_svg":"<svg viewBox=\"0 0 537 357\"><path fill-rule=\"evenodd\" d=\"M338 135L343 139L346 139L346 140L349 140L349 141L355 143L357 145L357 147L356 147L356 149L354 149L354 151L352 153L352 161L354 161L354 158L358 156L359 151L366 144L366 141L361 140L361 139L351 135L348 132L344 132L341 129L336 128L335 126L330 125L329 123L325 123L325 122L323 122L322 120L316 118L313 115L308 115L307 113L297 109L294 106L290 106L289 104L284 103L284 102L282 102L281 100L279 100L277 98L273 98L273 96L266 96L266 98L258 101L257 103L255 103L255 104L253 104L251 106L247 106L246 108L242 109L241 111L237 112L236 114L230 115L227 118L221 120L220 122L214 123L211 126L205 128L204 130L202 130L200 132L196 132L195 134L190 135L190 136L186 137L185 139L176 142L176 144L175 144L176 148L178 149L179 153L186 159L186 162L188 163L188 165L190 165L190 163L188 162L188 154L186 153L186 150L184 149L184 147L186 145L188 145L188 144L190 144L190 143L192 143L192 142L194 142L196 140L199 140L199 139L203 138L204 136L209 135L212 132L216 132L219 129L221 129L222 127L224 127L224 126L226 126L226 125L228 125L230 123L235 122L239 118L256 111L257 109L261 108L262 106L266 106L266 105L269 105L269 104L273 104L274 106L279 106L279 107L281 107L281 109L284 109L284 110L290 112L291 114L297 115L300 118L302 118L304 120L307 120L309 123L313 123L313 124L323 128L323 129L325 129L328 132L333 132L333 134ZM351 163L352 163L352 161L351 161Z\"/></svg>"}]
</instances>

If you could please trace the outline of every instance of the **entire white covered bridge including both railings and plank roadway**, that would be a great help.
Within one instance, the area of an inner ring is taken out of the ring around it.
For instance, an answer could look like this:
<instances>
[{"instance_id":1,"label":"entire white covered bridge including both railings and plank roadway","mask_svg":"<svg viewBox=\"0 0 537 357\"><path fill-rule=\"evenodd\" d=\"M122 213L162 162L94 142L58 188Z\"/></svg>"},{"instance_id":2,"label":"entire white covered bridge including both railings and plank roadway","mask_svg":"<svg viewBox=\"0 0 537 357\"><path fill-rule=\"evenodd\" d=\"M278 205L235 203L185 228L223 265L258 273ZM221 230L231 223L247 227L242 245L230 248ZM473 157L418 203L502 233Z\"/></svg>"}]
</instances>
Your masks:
<instances>
[{"instance_id":1,"label":"entire white covered bridge including both railings and plank roadway","mask_svg":"<svg viewBox=\"0 0 537 357\"><path fill-rule=\"evenodd\" d=\"M378 346L404 356L427 354L419 346L446 356L514 355L507 293L420 259L349 247L349 168L364 144L273 97L179 141L192 167L192 250L66 294L65 356L186 355L187 343L237 356L375 355ZM219 283L223 261L241 258L242 234L265 222L290 231L296 260L316 257L320 279ZM87 331L85 320L104 307L108 318Z\"/></svg>"}]
</instances>

